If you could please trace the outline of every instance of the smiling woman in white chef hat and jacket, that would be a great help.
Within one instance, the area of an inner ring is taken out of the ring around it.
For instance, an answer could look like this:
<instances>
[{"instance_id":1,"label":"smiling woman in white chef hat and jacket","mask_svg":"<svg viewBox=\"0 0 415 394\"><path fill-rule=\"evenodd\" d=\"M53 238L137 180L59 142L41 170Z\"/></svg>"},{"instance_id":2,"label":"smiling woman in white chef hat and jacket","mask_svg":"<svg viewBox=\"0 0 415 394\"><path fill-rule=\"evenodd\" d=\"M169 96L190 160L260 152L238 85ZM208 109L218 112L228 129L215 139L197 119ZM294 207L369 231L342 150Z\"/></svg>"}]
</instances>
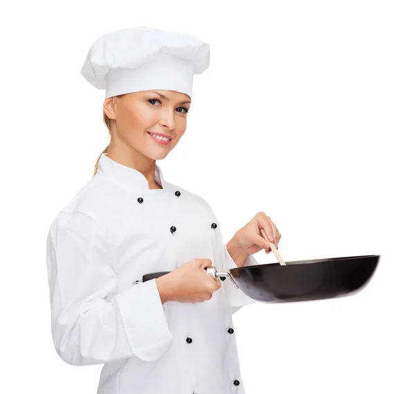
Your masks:
<instances>
[{"instance_id":1,"label":"smiling woman in white chef hat and jacket","mask_svg":"<svg viewBox=\"0 0 415 394\"><path fill-rule=\"evenodd\" d=\"M141 27L100 37L82 67L105 89L111 142L53 220L46 262L53 343L68 364L104 364L98 394L245 393L232 314L254 301L204 268L257 264L281 234L258 213L224 244L208 202L156 165L209 62L199 39ZM171 272L137 282L156 271Z\"/></svg>"}]
</instances>

